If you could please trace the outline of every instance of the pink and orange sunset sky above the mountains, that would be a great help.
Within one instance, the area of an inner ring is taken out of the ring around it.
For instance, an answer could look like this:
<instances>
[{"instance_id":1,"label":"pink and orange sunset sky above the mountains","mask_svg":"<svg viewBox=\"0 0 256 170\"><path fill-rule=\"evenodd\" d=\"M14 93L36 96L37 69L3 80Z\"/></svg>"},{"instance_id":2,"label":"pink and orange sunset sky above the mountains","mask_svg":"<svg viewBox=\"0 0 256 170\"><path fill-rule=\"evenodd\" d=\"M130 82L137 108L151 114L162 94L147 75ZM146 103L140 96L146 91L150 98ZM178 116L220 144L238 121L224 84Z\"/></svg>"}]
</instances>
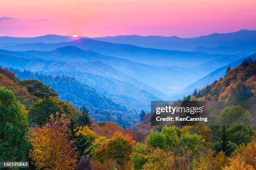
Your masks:
<instances>
[{"instance_id":1,"label":"pink and orange sunset sky above the mountains","mask_svg":"<svg viewBox=\"0 0 256 170\"><path fill-rule=\"evenodd\" d=\"M256 30L256 0L4 0L0 36L195 37Z\"/></svg>"}]
</instances>

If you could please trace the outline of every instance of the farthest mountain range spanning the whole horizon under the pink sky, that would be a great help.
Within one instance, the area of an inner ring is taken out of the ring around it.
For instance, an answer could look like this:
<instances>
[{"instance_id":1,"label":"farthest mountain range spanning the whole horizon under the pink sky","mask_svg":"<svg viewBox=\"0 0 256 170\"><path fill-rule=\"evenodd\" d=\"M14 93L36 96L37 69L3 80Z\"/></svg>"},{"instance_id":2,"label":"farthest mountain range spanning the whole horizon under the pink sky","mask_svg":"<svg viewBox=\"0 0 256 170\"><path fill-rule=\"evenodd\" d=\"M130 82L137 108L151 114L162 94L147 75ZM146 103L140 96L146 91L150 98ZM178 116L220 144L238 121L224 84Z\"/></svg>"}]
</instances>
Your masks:
<instances>
[{"instance_id":1,"label":"farthest mountain range spanning the whole horizon under the pink sky","mask_svg":"<svg viewBox=\"0 0 256 170\"><path fill-rule=\"evenodd\" d=\"M89 37L72 37L62 35L44 35L39 37L0 37L0 47L10 50L10 46L24 43L58 43L68 42ZM155 48L163 50L200 51L211 54L235 54L245 57L253 54L256 47L256 30L241 29L230 33L213 33L200 37L180 38L176 36L140 36L118 35L107 37L90 37L92 40L112 42L118 44L130 44L139 47ZM44 44L41 44L44 45ZM38 44L34 46L36 48ZM15 47L23 50L22 46ZM24 47L24 46L23 46ZM37 47L38 48L38 47ZM56 47L55 47L56 48ZM27 49L26 49L27 50ZM35 49L38 50L38 49ZM53 50L53 49L51 49ZM96 51L97 52L97 51Z\"/></svg>"}]
</instances>

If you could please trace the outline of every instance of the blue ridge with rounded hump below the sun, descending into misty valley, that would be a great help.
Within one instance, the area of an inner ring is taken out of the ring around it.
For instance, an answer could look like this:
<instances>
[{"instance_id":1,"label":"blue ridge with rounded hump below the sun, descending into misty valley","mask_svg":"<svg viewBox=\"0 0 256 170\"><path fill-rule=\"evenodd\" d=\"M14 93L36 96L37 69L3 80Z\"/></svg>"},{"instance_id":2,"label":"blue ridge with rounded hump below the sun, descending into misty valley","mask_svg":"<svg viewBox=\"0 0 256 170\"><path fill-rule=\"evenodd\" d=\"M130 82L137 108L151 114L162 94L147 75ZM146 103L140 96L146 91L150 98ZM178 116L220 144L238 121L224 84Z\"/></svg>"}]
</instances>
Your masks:
<instances>
[{"instance_id":1,"label":"blue ridge with rounded hump below the sun, descending into misty valley","mask_svg":"<svg viewBox=\"0 0 256 170\"><path fill-rule=\"evenodd\" d=\"M146 65L131 60L101 55L90 50L82 50L74 46L60 47L53 51L16 52L0 50L0 53L29 59L41 59L65 63L70 62L58 67L53 66L51 67L51 70L68 71L70 68L72 71L77 70L79 72L90 72L101 76L112 77L125 82L130 82L131 84L163 99L168 98L166 95L163 95L163 93L176 93L192 82L198 80L199 77L203 77L233 60L228 57L222 57L193 68L185 68L177 66ZM103 63L95 61L101 61ZM77 65L79 67L77 67ZM199 68L199 70L197 68ZM33 69L33 67L26 69L30 70ZM45 69L45 71L49 71L49 69ZM170 79L170 77L172 78Z\"/></svg>"}]
</instances>

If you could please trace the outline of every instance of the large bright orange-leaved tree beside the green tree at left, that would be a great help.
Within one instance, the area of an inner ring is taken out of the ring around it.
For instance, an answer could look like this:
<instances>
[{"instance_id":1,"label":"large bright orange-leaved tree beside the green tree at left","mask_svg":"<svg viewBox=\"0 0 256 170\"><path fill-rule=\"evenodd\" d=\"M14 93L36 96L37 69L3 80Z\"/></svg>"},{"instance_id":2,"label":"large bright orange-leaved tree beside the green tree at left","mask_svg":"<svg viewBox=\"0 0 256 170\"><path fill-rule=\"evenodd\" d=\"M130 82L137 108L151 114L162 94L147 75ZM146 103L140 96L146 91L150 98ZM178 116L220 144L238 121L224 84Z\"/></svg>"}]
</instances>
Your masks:
<instances>
[{"instance_id":1,"label":"large bright orange-leaved tree beside the green tree at left","mask_svg":"<svg viewBox=\"0 0 256 170\"><path fill-rule=\"evenodd\" d=\"M42 128L31 130L29 141L33 146L29 157L38 169L74 169L78 152L74 141L69 140L69 119L59 113L50 116L49 122Z\"/></svg>"}]
</instances>

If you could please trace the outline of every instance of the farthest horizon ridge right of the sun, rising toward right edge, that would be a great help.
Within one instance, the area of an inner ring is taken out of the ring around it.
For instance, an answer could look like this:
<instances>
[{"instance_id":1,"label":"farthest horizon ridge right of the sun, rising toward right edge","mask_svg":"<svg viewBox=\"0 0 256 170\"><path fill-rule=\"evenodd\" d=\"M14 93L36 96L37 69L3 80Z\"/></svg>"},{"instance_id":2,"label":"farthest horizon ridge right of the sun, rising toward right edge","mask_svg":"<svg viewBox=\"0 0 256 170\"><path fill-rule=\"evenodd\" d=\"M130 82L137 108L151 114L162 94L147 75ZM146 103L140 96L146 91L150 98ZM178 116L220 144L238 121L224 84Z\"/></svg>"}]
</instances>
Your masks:
<instances>
[{"instance_id":1,"label":"farthest horizon ridge right of the sun, rising toward right edge","mask_svg":"<svg viewBox=\"0 0 256 170\"><path fill-rule=\"evenodd\" d=\"M213 33L193 38L118 35L114 37L95 37L91 39L119 44L132 44L139 47L200 51L211 54L239 54L244 56L256 52L254 50L256 47L256 30L246 29L230 33Z\"/></svg>"}]
</instances>

